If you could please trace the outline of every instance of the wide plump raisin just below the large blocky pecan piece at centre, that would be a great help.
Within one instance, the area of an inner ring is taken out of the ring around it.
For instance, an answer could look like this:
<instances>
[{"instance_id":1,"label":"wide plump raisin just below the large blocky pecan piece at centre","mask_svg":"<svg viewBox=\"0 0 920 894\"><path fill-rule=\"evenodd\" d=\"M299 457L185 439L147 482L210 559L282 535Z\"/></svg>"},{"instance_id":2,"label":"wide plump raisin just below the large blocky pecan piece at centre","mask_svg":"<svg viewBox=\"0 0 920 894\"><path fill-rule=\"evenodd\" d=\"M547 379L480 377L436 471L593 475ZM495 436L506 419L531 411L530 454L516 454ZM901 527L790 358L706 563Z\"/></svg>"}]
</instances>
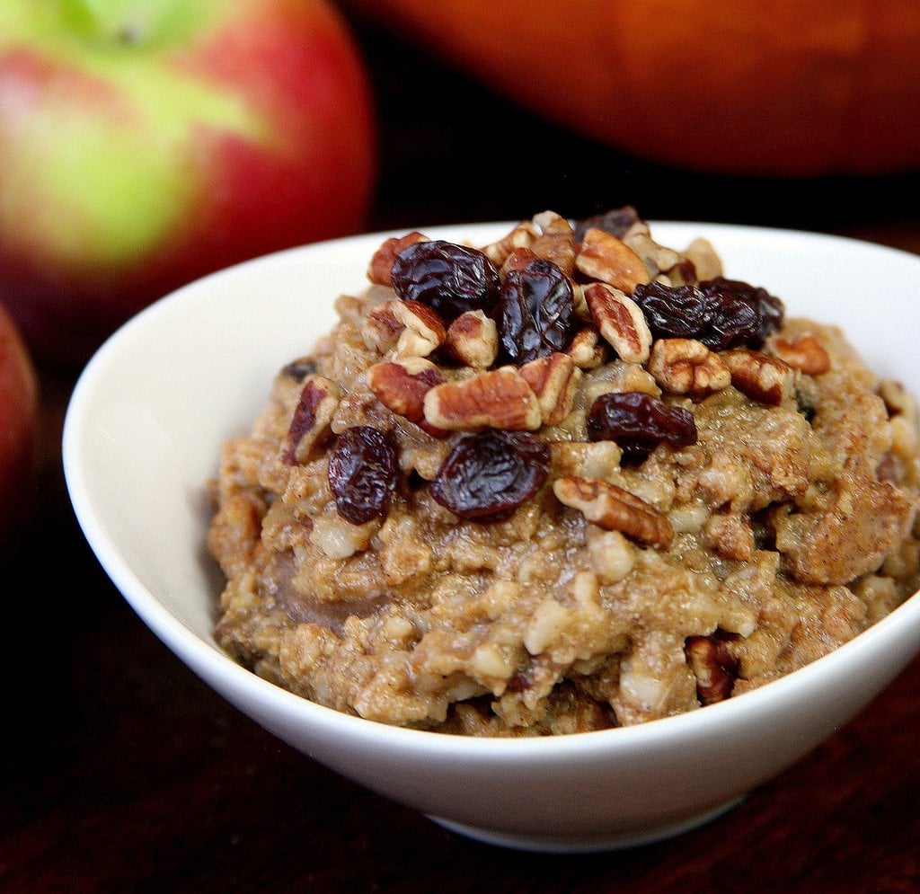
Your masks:
<instances>
[{"instance_id":1,"label":"wide plump raisin just below the large blocky pecan piece at centre","mask_svg":"<svg viewBox=\"0 0 920 894\"><path fill-rule=\"evenodd\" d=\"M488 429L454 445L431 483L431 496L462 519L500 521L549 477L549 448L523 431Z\"/></svg>"}]
</instances>

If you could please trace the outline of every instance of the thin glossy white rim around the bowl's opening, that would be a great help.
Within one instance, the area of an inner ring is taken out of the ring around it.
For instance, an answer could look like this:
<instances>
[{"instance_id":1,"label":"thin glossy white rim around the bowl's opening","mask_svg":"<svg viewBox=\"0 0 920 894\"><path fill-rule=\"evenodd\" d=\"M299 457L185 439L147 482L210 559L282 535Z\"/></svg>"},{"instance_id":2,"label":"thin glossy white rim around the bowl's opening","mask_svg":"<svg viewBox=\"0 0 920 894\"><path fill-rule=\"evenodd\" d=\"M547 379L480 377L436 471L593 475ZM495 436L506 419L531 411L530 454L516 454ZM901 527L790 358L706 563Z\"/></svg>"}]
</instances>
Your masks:
<instances>
[{"instance_id":1,"label":"thin glossy white rim around the bowl's opening","mask_svg":"<svg viewBox=\"0 0 920 894\"><path fill-rule=\"evenodd\" d=\"M517 222L481 222L471 224L439 224L419 227L420 232L432 237L457 238L460 234L476 235L491 230L500 231L511 228ZM850 236L811 232L794 228L777 228L752 224L722 224L695 221L650 220L648 222L655 232L656 227L675 226L681 230L702 231L712 234L739 234L752 237L788 238L799 241L802 238L819 240L828 245L859 246L861 250L872 250L901 258L909 258L920 270L920 256L892 246L853 238ZM169 612L133 571L129 562L121 556L107 533L94 499L86 487L83 475L83 457L80 451L81 427L86 424L86 416L93 397L94 385L106 372L109 358L121 349L121 343L134 329L142 328L148 321L171 309L174 304L190 300L214 282L237 275L243 269L258 268L263 265L278 263L286 258L309 257L321 254L330 246L345 243L383 241L392 235L403 235L405 229L385 230L373 233L361 233L339 239L329 239L305 246L294 246L267 255L242 261L230 267L217 270L211 274L170 292L153 304L148 305L138 314L132 316L125 324L113 332L98 348L80 373L71 398L66 408L63 421L62 451L64 479L71 499L76 519L100 565L115 584L122 598L128 602L144 623L158 636L178 658L192 667L209 682L223 678L235 689L253 696L263 705L269 705L283 714L290 716L294 723L318 724L327 731L338 733L347 739L370 737L386 747L397 749L414 749L431 755L454 755L462 748L464 756L474 760L492 760L509 757L558 757L564 751L567 757L578 757L589 752L632 751L652 742L661 744L666 740L678 739L688 741L691 736L699 737L708 730L720 730L730 722L731 717L739 711L744 716L768 712L777 702L793 696L796 691L814 691L823 679L834 675L841 664L857 664L862 653L872 651L877 640L888 642L896 638L903 625L916 625L920 629L920 591L914 592L900 605L866 630L834 648L831 652L814 659L797 671L774 681L765 683L747 693L733 696L724 702L707 705L693 711L673 716L666 716L646 721L633 726L592 730L590 732L569 733L557 736L535 736L521 738L471 737L437 730L398 727L380 721L340 712L334 708L312 702L303 696L283 689L275 683L259 677L253 671L238 664L214 642L207 642L176 615ZM732 724L734 725L734 724ZM461 744L462 743L462 744Z\"/></svg>"}]
</instances>

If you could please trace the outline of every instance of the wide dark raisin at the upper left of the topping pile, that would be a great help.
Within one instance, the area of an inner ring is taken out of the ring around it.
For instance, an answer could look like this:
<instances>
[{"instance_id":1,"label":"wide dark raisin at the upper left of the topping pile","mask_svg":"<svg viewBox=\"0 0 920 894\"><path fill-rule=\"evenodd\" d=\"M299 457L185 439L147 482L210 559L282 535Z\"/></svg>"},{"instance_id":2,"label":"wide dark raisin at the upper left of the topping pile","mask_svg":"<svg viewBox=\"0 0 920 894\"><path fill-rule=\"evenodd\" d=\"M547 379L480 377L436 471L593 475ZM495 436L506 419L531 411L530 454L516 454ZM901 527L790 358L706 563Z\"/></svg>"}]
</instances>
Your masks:
<instances>
[{"instance_id":1,"label":"wide dark raisin at the upper left of the topping pile","mask_svg":"<svg viewBox=\"0 0 920 894\"><path fill-rule=\"evenodd\" d=\"M404 248L390 277L400 298L428 304L444 320L472 310L488 314L499 300L499 271L489 258L441 239Z\"/></svg>"}]
</instances>

